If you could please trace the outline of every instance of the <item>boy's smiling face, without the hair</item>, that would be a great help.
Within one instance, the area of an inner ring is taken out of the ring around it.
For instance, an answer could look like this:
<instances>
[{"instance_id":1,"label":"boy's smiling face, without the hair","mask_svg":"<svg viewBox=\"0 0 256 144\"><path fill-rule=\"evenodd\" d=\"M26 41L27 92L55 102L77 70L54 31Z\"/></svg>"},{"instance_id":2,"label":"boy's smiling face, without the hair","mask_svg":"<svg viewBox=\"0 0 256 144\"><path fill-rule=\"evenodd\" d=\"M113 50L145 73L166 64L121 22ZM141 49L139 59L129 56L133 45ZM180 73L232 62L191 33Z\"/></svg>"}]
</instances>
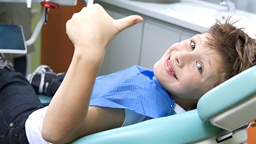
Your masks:
<instances>
[{"instance_id":1,"label":"boy's smiling face, without the hair","mask_svg":"<svg viewBox=\"0 0 256 144\"><path fill-rule=\"evenodd\" d=\"M208 33L173 44L154 65L159 83L182 99L198 100L218 79L218 54L205 47Z\"/></svg>"}]
</instances>

